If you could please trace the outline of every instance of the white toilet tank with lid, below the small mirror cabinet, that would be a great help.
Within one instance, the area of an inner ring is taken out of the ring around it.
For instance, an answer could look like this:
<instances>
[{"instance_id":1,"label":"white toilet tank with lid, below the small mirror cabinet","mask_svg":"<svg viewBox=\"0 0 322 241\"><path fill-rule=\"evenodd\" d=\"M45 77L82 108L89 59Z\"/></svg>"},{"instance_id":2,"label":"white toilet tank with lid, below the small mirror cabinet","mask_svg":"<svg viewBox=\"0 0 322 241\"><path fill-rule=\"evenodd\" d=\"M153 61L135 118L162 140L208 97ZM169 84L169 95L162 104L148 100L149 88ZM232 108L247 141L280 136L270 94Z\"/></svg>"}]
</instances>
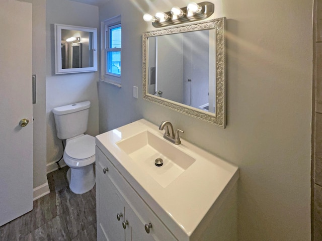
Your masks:
<instances>
[{"instance_id":1,"label":"white toilet tank with lid, below the small mirror cabinet","mask_svg":"<svg viewBox=\"0 0 322 241\"><path fill-rule=\"evenodd\" d=\"M68 104L53 108L57 137L61 140L72 138L87 131L90 101Z\"/></svg>"}]
</instances>

